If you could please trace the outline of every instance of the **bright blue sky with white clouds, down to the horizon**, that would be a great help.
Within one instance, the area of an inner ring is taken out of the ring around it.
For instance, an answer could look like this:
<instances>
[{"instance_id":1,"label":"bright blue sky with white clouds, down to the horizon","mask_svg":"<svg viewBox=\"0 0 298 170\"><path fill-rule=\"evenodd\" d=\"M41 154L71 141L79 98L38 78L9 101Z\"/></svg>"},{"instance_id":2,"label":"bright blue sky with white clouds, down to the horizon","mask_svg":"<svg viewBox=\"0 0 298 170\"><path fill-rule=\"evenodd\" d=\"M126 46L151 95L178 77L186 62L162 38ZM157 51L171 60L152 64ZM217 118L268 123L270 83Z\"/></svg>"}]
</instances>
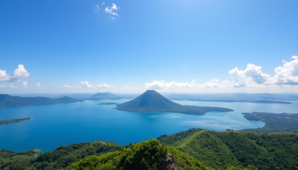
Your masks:
<instances>
[{"instance_id":1,"label":"bright blue sky with white clouds, down to the horizon","mask_svg":"<svg viewBox=\"0 0 298 170\"><path fill-rule=\"evenodd\" d=\"M297 6L4 0L0 93L295 93Z\"/></svg>"}]
</instances>

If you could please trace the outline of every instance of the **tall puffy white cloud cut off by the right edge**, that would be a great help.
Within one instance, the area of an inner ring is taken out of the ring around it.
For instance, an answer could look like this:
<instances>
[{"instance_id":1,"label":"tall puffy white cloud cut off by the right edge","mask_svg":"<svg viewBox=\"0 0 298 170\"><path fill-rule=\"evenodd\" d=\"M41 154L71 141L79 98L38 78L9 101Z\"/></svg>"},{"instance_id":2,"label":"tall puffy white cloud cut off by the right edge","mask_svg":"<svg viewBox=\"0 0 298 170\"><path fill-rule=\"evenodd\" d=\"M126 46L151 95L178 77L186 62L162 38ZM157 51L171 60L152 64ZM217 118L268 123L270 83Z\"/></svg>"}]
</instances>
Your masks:
<instances>
[{"instance_id":1,"label":"tall puffy white cloud cut off by the right edge","mask_svg":"<svg viewBox=\"0 0 298 170\"><path fill-rule=\"evenodd\" d=\"M278 85L298 85L298 56L293 56L293 61L283 60L283 66L274 69L274 81Z\"/></svg>"}]
</instances>

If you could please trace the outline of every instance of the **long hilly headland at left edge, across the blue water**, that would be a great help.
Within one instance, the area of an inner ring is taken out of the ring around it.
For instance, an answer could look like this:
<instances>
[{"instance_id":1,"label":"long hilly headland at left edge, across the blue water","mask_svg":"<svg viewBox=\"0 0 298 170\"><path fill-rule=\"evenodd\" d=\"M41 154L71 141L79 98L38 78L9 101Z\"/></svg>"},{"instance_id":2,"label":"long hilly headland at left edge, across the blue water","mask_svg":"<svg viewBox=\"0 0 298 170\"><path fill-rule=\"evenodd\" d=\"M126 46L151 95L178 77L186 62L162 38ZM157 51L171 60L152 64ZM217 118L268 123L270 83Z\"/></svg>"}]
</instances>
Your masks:
<instances>
[{"instance_id":1,"label":"long hilly headland at left edge, across the blue water","mask_svg":"<svg viewBox=\"0 0 298 170\"><path fill-rule=\"evenodd\" d=\"M0 108L1 107L17 107L17 106L32 106L32 105L47 105L55 103L72 103L82 102L79 99L73 99L71 97L61 97L58 99L46 98L46 97L20 97L10 96L8 94L0 94Z\"/></svg>"}]
</instances>

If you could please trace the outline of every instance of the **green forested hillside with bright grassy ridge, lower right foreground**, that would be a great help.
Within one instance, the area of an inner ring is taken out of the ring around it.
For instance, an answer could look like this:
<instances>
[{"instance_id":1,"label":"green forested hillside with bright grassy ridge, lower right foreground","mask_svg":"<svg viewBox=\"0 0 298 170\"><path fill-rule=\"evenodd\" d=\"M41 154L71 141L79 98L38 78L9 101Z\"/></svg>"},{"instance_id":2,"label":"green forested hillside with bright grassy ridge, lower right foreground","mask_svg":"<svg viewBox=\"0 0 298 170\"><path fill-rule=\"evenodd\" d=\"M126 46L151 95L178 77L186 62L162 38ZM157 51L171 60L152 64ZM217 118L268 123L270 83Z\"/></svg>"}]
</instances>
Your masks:
<instances>
[{"instance_id":1,"label":"green forested hillside with bright grassy ridge, lower right foreground","mask_svg":"<svg viewBox=\"0 0 298 170\"><path fill-rule=\"evenodd\" d=\"M158 139L215 169L248 165L254 165L259 170L298 169L298 134L295 133L191 129L162 135Z\"/></svg>"}]
</instances>

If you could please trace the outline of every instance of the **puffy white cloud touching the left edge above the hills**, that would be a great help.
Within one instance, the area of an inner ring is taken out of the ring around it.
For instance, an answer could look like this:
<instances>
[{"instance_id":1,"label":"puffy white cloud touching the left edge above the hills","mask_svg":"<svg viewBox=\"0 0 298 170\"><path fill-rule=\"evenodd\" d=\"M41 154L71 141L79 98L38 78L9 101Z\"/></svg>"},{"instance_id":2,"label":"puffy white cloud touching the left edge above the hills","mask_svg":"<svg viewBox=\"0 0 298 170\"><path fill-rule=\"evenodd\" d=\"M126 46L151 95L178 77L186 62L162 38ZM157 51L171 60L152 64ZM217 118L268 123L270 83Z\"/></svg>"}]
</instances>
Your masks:
<instances>
[{"instance_id":1,"label":"puffy white cloud touching the left edge above the hills","mask_svg":"<svg viewBox=\"0 0 298 170\"><path fill-rule=\"evenodd\" d=\"M15 69L13 76L6 73L6 70L0 70L0 81L16 82L29 77L30 73L24 68L24 65L19 64Z\"/></svg>"}]
</instances>

